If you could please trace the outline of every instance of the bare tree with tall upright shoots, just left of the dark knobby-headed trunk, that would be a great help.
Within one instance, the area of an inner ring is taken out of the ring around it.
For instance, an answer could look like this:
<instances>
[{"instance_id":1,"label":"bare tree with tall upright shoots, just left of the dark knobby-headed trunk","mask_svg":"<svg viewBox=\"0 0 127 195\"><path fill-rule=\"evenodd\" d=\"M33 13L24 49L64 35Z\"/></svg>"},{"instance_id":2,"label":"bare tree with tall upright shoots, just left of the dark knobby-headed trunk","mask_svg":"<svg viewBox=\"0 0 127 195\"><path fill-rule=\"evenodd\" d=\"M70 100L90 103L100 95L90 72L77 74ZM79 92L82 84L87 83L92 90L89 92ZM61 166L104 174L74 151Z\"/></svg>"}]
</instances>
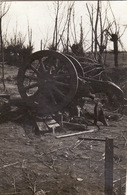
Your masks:
<instances>
[{"instance_id":1,"label":"bare tree with tall upright shoots, just left of the dark knobby-headed trunk","mask_svg":"<svg viewBox=\"0 0 127 195\"><path fill-rule=\"evenodd\" d=\"M112 26L112 23L108 21L107 11L108 6L106 6L104 13L102 13L102 2L100 0L97 1L97 8L96 8L96 18L94 24L94 10L93 6L91 7L91 11L89 6L86 4L91 28L92 28L92 49L91 51L94 52L94 58L101 64L104 64L103 60L103 53L107 46L107 39L106 31ZM103 18L102 18L103 15ZM106 40L105 40L106 39ZM94 43L94 51L93 51L93 43Z\"/></svg>"}]
</instances>

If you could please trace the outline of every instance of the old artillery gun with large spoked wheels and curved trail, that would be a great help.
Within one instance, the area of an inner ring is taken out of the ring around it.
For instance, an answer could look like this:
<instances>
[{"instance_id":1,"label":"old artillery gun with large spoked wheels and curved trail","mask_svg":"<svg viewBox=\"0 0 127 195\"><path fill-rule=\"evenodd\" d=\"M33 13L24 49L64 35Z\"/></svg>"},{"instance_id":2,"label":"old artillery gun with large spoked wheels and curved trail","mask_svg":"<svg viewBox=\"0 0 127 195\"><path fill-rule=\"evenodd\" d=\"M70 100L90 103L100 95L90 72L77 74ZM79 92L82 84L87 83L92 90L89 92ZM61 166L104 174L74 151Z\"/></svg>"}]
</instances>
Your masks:
<instances>
[{"instance_id":1,"label":"old artillery gun with large spoked wheels and curved trail","mask_svg":"<svg viewBox=\"0 0 127 195\"><path fill-rule=\"evenodd\" d=\"M81 64L71 56L42 50L29 56L18 72L18 90L28 106L42 114L61 111L74 99L103 92L124 104L123 91L110 81L84 76Z\"/></svg>"}]
</instances>

